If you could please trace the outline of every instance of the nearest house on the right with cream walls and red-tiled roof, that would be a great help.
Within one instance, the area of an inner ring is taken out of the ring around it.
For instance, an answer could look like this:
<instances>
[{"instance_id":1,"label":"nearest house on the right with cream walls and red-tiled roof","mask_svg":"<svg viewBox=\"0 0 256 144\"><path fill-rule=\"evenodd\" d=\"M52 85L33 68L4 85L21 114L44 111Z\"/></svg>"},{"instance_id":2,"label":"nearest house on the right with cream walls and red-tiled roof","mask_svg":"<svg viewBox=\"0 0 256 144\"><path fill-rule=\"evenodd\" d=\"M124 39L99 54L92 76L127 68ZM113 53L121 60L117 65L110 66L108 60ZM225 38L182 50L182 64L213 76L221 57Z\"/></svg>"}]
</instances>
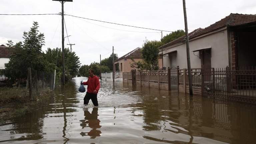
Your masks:
<instances>
[{"instance_id":1,"label":"nearest house on the right with cream walls and red-tiled roof","mask_svg":"<svg viewBox=\"0 0 256 144\"><path fill-rule=\"evenodd\" d=\"M233 14L189 33L191 68L256 66L256 15ZM187 68L186 40L182 36L162 47L163 66Z\"/></svg>"}]
</instances>

